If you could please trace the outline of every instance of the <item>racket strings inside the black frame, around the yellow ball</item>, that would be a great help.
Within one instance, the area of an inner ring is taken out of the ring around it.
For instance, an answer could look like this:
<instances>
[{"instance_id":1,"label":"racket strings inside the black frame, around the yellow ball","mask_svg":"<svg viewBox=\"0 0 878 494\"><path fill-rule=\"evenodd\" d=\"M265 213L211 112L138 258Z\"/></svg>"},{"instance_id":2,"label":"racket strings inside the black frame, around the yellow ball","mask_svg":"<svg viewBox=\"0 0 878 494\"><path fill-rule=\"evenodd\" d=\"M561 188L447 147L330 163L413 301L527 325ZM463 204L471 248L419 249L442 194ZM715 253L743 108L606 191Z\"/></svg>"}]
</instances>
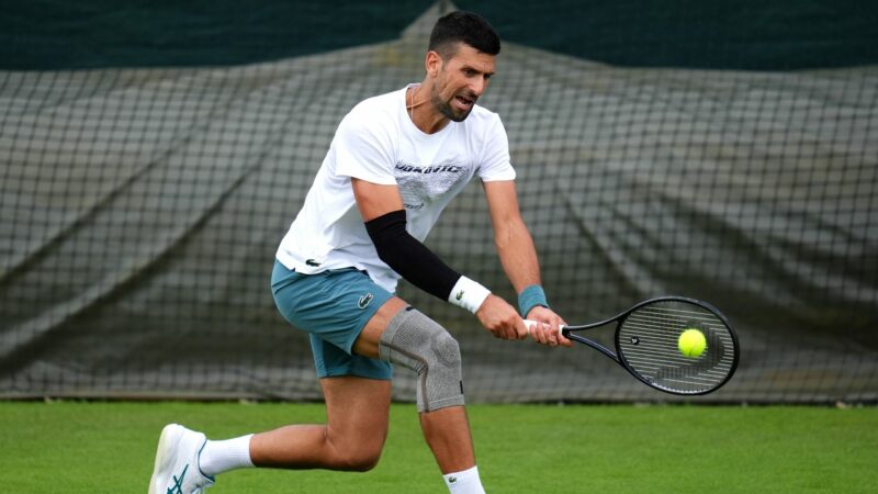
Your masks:
<instances>
[{"instance_id":1,"label":"racket strings inside the black frame, around the yellow ball","mask_svg":"<svg viewBox=\"0 0 878 494\"><path fill-rule=\"evenodd\" d=\"M678 348L688 328L705 334L707 346L696 357ZM721 385L734 366L734 341L723 321L700 305L663 301L633 311L618 334L621 357L652 385L676 393L703 393Z\"/></svg>"}]
</instances>

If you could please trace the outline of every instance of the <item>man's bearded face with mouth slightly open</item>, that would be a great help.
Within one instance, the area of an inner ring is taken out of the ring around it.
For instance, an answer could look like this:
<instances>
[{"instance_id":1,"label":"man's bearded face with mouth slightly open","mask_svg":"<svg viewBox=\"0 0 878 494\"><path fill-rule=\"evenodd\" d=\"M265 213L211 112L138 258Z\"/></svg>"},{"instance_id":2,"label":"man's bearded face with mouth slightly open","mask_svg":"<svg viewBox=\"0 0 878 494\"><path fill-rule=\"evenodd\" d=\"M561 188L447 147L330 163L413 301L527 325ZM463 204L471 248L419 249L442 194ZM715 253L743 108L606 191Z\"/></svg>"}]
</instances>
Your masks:
<instances>
[{"instance_id":1,"label":"man's bearded face with mouth slightly open","mask_svg":"<svg viewBox=\"0 0 878 494\"><path fill-rule=\"evenodd\" d=\"M436 54L436 58L430 102L443 115L462 122L487 89L488 79L494 75L495 56L459 43L454 55L442 59Z\"/></svg>"}]
</instances>

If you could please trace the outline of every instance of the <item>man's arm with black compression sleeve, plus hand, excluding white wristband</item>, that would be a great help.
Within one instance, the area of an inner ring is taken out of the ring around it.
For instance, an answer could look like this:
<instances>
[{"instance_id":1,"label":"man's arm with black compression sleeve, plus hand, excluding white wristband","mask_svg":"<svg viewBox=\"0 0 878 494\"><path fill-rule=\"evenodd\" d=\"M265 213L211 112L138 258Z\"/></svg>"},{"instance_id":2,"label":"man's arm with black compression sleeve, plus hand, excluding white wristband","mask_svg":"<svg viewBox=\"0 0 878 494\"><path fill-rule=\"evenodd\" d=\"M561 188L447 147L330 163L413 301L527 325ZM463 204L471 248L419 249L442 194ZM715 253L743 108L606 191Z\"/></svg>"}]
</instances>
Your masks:
<instances>
[{"instance_id":1,"label":"man's arm with black compression sleeve, plus hand, excluding white wristband","mask_svg":"<svg viewBox=\"0 0 878 494\"><path fill-rule=\"evenodd\" d=\"M451 285L464 277L451 270L417 239L399 232L404 223L401 225L398 221L392 222L394 217L405 217L397 186L382 186L359 179L352 179L351 182L357 205L367 224L367 231L375 243L379 257L419 289L440 299L447 297L452 292ZM406 245L401 246L398 243ZM498 338L527 337L527 328L515 307L503 299L488 294L473 312L482 325Z\"/></svg>"}]
</instances>

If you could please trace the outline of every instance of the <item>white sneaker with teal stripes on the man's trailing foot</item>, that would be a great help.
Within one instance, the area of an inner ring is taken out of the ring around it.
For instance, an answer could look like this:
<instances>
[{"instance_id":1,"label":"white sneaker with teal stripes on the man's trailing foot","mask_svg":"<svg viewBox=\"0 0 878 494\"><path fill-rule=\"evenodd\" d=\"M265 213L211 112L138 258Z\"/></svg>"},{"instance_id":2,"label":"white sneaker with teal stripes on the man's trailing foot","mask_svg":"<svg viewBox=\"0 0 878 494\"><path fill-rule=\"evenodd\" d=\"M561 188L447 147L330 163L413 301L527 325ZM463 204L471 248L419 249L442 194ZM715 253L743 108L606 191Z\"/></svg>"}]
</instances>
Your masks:
<instances>
[{"instance_id":1,"label":"white sneaker with teal stripes on the man's trailing foot","mask_svg":"<svg viewBox=\"0 0 878 494\"><path fill-rule=\"evenodd\" d=\"M149 494L200 494L214 483L199 468L207 438L178 424L161 429Z\"/></svg>"}]
</instances>

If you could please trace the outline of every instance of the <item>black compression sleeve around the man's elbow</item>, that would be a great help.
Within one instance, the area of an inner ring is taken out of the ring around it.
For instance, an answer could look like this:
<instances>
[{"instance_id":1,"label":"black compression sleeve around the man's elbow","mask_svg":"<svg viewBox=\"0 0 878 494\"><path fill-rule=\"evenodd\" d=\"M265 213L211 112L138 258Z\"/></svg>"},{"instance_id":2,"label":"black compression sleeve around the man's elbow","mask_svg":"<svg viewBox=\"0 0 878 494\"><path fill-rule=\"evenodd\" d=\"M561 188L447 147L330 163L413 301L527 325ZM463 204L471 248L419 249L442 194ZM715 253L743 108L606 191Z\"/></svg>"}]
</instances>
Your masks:
<instances>
[{"instance_id":1,"label":"black compression sleeve around the man's elbow","mask_svg":"<svg viewBox=\"0 0 878 494\"><path fill-rule=\"evenodd\" d=\"M460 273L449 268L417 238L405 231L405 211L394 211L365 222L378 257L406 281L448 301Z\"/></svg>"}]
</instances>

